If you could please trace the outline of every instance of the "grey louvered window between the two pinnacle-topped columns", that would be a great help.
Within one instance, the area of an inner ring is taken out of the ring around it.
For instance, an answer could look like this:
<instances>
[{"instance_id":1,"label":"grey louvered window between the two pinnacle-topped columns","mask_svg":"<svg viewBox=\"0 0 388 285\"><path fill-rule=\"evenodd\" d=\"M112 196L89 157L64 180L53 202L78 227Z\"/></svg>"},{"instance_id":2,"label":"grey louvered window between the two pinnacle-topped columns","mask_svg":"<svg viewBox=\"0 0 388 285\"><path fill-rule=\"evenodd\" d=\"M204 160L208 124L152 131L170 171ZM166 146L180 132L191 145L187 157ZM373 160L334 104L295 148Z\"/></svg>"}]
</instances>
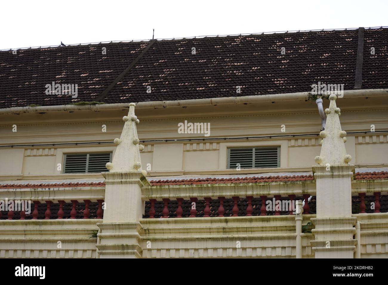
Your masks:
<instances>
[{"instance_id":1,"label":"grey louvered window between the two pinnacle-topped columns","mask_svg":"<svg viewBox=\"0 0 388 285\"><path fill-rule=\"evenodd\" d=\"M228 149L228 169L280 167L280 147Z\"/></svg>"}]
</instances>

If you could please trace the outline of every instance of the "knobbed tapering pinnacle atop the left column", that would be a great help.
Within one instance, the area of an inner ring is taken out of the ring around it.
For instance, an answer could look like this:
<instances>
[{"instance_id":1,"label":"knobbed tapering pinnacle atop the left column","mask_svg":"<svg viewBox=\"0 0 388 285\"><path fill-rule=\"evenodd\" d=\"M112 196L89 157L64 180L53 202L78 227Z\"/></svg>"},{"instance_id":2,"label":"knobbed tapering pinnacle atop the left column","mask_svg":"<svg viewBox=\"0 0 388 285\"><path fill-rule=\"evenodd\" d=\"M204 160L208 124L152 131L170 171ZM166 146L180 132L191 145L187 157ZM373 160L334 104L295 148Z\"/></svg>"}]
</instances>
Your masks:
<instances>
[{"instance_id":1,"label":"knobbed tapering pinnacle atop the left column","mask_svg":"<svg viewBox=\"0 0 388 285\"><path fill-rule=\"evenodd\" d=\"M136 130L136 124L139 124L140 121L135 116L135 106L135 103L129 104L128 116L123 117L125 123L120 139L114 139L117 148L112 163L106 164L109 172L142 172L139 138Z\"/></svg>"}]
</instances>

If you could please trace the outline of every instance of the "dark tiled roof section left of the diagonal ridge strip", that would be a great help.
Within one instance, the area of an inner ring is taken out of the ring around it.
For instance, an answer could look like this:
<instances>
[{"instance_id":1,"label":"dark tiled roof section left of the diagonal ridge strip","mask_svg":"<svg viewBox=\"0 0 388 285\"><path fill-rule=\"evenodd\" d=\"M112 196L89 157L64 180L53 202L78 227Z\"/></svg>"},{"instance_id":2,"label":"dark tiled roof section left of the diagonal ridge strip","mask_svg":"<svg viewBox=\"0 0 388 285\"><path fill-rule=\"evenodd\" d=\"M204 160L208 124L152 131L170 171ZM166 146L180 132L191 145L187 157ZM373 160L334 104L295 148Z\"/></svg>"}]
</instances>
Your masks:
<instances>
[{"instance_id":1,"label":"dark tiled roof section left of the diagonal ridge strip","mask_svg":"<svg viewBox=\"0 0 388 285\"><path fill-rule=\"evenodd\" d=\"M0 106L93 101L148 45L109 43L0 51ZM102 54L106 47L106 55ZM46 95L45 85L78 84L78 97Z\"/></svg>"}]
</instances>

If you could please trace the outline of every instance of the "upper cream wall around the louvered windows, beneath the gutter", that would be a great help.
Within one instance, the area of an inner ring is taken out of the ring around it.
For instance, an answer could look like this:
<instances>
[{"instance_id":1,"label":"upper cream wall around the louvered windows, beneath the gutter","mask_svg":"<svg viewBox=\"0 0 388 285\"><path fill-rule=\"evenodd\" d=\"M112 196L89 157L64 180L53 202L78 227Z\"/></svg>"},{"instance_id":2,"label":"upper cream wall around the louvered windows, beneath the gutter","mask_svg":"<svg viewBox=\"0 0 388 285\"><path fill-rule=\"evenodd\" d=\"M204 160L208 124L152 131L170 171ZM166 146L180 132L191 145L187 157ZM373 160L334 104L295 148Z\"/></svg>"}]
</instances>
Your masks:
<instances>
[{"instance_id":1,"label":"upper cream wall around the louvered windows, beneath the gutter","mask_svg":"<svg viewBox=\"0 0 388 285\"><path fill-rule=\"evenodd\" d=\"M381 166L388 162L388 133L349 134L388 130L388 103L381 98L338 99L341 124L348 132L345 144L352 163ZM328 102L324 100L324 107ZM49 112L45 114L2 115L0 145L113 141L120 137L121 117L126 110ZM248 105L217 105L201 107L172 107L165 109L139 109L137 126L140 140L168 140L205 138L203 134L179 134L178 123L210 123L207 141L144 143L141 153L143 169L151 168L150 175L177 173L213 174L225 170L227 148L244 146L280 146L280 169L255 169L251 173L296 171L310 169L314 157L319 155L320 117L315 102L276 102ZM12 132L12 125L17 132ZM286 132L281 132L285 125ZM106 132L102 132L106 125ZM249 140L223 140L231 136L299 135L302 137L263 138ZM217 139L219 138L219 139ZM14 179L29 175L58 175L57 164L63 163L63 154L73 152L113 151L112 145L44 146L0 149L0 178ZM6 164L3 162L7 162ZM39 166L38 168L36 166ZM356 165L357 166L357 165ZM225 172L225 171L224 171ZM233 171L230 170L229 173ZM236 172L236 171L235 171ZM248 173L242 170L238 173ZM21 176L23 174L23 176ZM71 175L71 174L70 174ZM64 176L69 176L66 174Z\"/></svg>"}]
</instances>

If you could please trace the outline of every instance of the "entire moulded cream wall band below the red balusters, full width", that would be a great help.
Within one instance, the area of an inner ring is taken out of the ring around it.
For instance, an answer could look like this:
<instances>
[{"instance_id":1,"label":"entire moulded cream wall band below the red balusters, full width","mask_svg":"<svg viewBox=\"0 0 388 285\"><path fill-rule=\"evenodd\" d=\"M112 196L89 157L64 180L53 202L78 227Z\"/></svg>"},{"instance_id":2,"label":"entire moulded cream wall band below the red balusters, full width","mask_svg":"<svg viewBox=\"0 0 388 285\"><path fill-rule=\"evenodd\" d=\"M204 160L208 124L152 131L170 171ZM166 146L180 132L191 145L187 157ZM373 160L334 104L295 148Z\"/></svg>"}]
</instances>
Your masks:
<instances>
[{"instance_id":1,"label":"entire moulded cream wall band below the red balusters, full width","mask_svg":"<svg viewBox=\"0 0 388 285\"><path fill-rule=\"evenodd\" d=\"M361 225L361 258L387 258L388 213L352 216ZM303 215L303 225L314 217L314 214ZM2 220L0 258L94 258L99 241L88 237L98 230L97 223L102 220ZM295 258L296 255L294 216L141 219L139 226L143 258ZM310 244L314 235L302 233L301 237L302 257L314 258Z\"/></svg>"}]
</instances>

